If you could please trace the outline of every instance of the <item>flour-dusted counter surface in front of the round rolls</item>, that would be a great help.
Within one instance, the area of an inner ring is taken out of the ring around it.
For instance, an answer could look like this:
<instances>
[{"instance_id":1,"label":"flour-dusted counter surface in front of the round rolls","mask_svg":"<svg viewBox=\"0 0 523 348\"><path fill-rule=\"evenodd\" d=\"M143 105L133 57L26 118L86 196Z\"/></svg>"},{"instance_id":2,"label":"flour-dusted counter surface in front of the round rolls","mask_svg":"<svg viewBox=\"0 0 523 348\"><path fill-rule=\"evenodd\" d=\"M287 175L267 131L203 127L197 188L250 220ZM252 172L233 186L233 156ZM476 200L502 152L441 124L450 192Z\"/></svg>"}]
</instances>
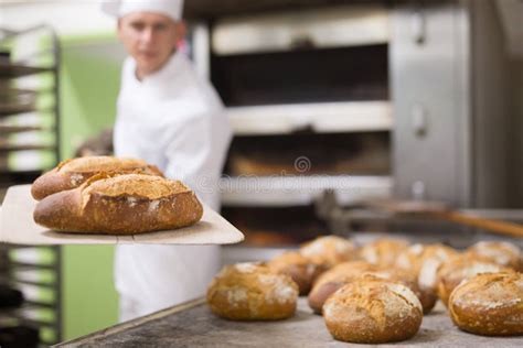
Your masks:
<instances>
[{"instance_id":1,"label":"flour-dusted counter surface in front of the round rolls","mask_svg":"<svg viewBox=\"0 0 523 348\"><path fill-rule=\"evenodd\" d=\"M300 298L296 315L281 322L230 322L214 316L204 300L196 300L57 347L348 347L335 341L323 318ZM410 340L387 346L522 347L522 337L483 337L457 329L441 304L425 316Z\"/></svg>"}]
</instances>

